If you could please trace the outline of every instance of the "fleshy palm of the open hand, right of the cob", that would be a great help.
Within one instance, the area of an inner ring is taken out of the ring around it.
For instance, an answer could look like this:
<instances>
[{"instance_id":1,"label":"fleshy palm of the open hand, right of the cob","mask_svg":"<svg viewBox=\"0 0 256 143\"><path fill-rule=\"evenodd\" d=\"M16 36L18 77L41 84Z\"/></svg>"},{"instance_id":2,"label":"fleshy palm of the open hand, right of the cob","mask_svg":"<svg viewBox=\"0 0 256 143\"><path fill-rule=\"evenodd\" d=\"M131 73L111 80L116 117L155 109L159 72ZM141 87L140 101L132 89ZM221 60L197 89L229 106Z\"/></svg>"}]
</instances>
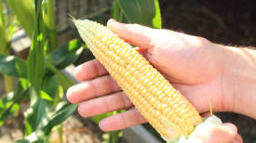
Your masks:
<instances>
[{"instance_id":1,"label":"fleshy palm of the open hand, right of the cob","mask_svg":"<svg viewBox=\"0 0 256 143\"><path fill-rule=\"evenodd\" d=\"M222 67L210 55L208 41L177 32L163 31L142 54L200 112L222 107ZM187 38L184 38L187 36ZM193 39L193 43L186 40ZM156 42L161 41L161 42Z\"/></svg>"}]
</instances>

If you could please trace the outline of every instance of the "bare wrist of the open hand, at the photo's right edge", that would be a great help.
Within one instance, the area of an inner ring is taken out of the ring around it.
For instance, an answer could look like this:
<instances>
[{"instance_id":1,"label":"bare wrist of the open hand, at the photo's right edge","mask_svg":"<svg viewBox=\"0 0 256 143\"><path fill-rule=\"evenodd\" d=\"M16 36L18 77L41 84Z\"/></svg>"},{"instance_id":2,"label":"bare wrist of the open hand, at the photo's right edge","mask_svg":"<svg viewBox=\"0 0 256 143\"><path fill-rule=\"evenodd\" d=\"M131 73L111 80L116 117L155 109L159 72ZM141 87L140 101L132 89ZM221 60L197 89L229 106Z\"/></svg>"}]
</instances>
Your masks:
<instances>
[{"instance_id":1,"label":"bare wrist of the open hand, at the photo's right edge","mask_svg":"<svg viewBox=\"0 0 256 143\"><path fill-rule=\"evenodd\" d=\"M223 46L223 101L228 111L256 119L256 50Z\"/></svg>"}]
</instances>

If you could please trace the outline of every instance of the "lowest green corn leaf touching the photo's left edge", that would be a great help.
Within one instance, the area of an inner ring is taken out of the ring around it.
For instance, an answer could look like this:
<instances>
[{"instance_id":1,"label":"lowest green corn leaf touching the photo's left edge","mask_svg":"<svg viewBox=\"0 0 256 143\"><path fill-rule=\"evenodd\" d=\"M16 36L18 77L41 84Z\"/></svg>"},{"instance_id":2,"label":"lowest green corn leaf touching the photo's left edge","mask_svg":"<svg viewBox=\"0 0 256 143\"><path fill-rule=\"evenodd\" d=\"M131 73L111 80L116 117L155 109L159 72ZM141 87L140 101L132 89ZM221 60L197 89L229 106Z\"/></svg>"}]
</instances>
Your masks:
<instances>
[{"instance_id":1,"label":"lowest green corn leaf touching the photo's left edge","mask_svg":"<svg viewBox=\"0 0 256 143\"><path fill-rule=\"evenodd\" d=\"M28 97L28 87L20 81L15 92L8 93L0 99L0 126L7 118L20 108L20 101Z\"/></svg>"}]
</instances>

